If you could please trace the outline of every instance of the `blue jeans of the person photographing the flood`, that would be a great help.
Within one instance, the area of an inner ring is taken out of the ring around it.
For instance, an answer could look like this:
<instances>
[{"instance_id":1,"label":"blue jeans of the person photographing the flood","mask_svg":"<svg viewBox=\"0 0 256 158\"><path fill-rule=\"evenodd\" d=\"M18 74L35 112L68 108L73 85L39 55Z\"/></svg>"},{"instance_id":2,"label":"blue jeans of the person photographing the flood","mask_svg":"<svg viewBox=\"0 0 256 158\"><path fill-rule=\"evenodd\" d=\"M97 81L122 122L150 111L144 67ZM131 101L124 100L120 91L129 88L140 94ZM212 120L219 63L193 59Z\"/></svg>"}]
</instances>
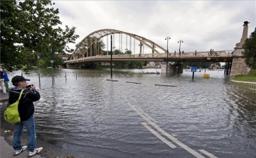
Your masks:
<instances>
[{"instance_id":1,"label":"blue jeans of the person photographing the flood","mask_svg":"<svg viewBox=\"0 0 256 158\"><path fill-rule=\"evenodd\" d=\"M21 123L15 124L14 129L14 138L13 138L13 147L14 150L19 150L21 146L21 135L23 126L26 127L28 131L28 152L33 152L36 149L36 128L33 115L31 115L28 120L21 121Z\"/></svg>"}]
</instances>

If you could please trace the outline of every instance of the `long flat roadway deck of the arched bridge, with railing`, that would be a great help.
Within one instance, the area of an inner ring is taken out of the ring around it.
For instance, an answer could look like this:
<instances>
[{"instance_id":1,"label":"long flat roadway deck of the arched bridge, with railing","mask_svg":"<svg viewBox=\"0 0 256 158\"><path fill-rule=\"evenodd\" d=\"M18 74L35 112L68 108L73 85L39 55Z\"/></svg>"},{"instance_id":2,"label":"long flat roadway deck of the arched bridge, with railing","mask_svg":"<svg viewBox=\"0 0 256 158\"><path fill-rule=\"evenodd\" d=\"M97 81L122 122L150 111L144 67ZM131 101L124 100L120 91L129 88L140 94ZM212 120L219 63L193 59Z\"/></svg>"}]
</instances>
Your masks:
<instances>
[{"instance_id":1,"label":"long flat roadway deck of the arched bridge, with railing","mask_svg":"<svg viewBox=\"0 0 256 158\"><path fill-rule=\"evenodd\" d=\"M208 52L185 52L179 55L177 52L170 52L168 59L166 53L159 54L142 54L142 55L112 55L113 61L155 61L163 62L232 62L234 57L241 57L231 55L225 51L215 51L213 55ZM65 61L65 64L78 64L84 62L110 62L111 55L97 55L94 57L82 57L76 60Z\"/></svg>"}]
</instances>

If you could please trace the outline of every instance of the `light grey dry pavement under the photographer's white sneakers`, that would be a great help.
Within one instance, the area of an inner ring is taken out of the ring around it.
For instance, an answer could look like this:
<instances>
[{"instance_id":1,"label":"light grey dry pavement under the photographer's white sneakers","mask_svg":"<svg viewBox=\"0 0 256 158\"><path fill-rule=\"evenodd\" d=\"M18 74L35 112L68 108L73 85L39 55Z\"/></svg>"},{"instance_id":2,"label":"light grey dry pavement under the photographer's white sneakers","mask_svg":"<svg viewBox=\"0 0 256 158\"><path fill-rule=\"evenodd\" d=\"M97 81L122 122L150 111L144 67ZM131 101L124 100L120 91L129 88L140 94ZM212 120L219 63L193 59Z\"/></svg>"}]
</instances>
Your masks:
<instances>
[{"instance_id":1,"label":"light grey dry pavement under the photographer's white sneakers","mask_svg":"<svg viewBox=\"0 0 256 158\"><path fill-rule=\"evenodd\" d=\"M4 140L4 137L0 136L0 155L2 158L23 158L28 157L28 150L21 152L18 156L14 156L14 149ZM43 158L39 154L33 156L33 158ZM45 158L45 157L44 157Z\"/></svg>"}]
</instances>

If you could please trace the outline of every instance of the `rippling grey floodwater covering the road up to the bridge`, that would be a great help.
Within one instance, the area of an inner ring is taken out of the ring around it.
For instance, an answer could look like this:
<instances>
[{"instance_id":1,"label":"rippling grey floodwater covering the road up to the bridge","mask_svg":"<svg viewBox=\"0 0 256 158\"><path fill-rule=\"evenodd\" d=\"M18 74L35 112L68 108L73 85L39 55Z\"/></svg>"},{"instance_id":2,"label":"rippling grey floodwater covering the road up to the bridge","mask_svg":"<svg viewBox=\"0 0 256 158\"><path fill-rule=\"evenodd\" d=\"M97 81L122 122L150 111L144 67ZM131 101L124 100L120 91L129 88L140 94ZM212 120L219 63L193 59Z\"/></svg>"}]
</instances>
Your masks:
<instances>
[{"instance_id":1,"label":"rippling grey floodwater covering the road up to the bridge","mask_svg":"<svg viewBox=\"0 0 256 158\"><path fill-rule=\"evenodd\" d=\"M114 70L117 81L108 81L110 69L54 69L54 85L50 69L23 74L41 93L38 139L76 158L256 157L255 90L230 84L223 71L203 79L202 69L193 80L189 71L139 73L156 71Z\"/></svg>"}]
</instances>

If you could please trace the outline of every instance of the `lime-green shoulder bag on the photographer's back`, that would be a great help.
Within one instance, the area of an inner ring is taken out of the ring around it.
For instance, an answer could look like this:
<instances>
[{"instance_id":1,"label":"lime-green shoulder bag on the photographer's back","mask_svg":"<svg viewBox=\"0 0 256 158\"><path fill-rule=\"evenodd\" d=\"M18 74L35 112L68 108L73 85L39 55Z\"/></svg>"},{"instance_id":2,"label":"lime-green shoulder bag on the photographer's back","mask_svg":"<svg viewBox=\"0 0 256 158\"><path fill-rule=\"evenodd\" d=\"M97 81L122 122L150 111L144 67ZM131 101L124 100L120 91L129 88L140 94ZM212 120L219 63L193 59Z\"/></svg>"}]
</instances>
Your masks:
<instances>
[{"instance_id":1,"label":"lime-green shoulder bag on the photographer's back","mask_svg":"<svg viewBox=\"0 0 256 158\"><path fill-rule=\"evenodd\" d=\"M4 120L6 120L8 123L15 124L21 122L21 118L18 113L18 103L21 99L23 91L24 89L22 89L21 94L18 97L18 100L15 103L9 105L6 111L4 111Z\"/></svg>"}]
</instances>

